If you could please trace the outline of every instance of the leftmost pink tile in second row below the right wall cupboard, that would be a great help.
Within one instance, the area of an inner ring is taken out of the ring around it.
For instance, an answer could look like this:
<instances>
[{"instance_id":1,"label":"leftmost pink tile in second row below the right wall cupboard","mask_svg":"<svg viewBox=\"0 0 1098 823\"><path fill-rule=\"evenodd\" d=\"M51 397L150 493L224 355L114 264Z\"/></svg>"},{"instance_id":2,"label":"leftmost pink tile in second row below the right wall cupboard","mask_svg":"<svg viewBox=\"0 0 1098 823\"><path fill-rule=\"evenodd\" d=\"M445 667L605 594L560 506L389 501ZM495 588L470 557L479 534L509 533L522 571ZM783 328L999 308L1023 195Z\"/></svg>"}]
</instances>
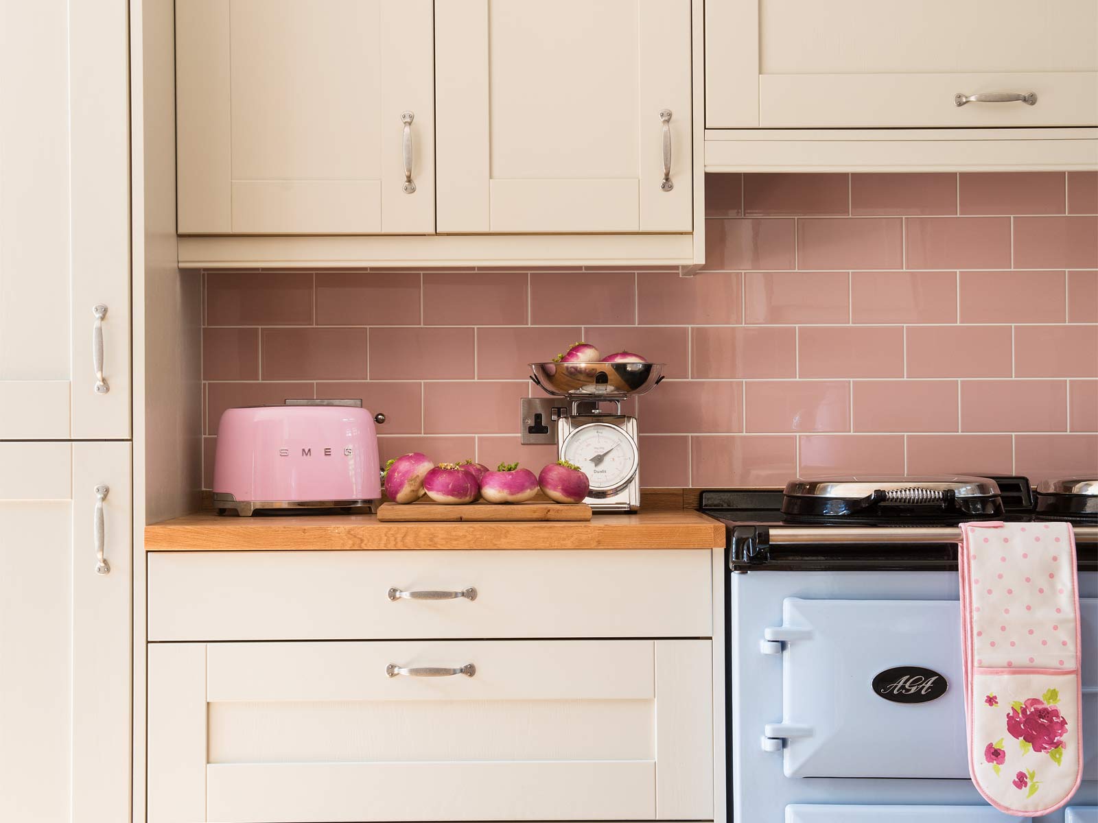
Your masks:
<instances>
[{"instance_id":1,"label":"leftmost pink tile in second row below the right wall cupboard","mask_svg":"<svg viewBox=\"0 0 1098 823\"><path fill-rule=\"evenodd\" d=\"M743 218L705 222L706 271L796 268L793 219Z\"/></svg>"}]
</instances>

